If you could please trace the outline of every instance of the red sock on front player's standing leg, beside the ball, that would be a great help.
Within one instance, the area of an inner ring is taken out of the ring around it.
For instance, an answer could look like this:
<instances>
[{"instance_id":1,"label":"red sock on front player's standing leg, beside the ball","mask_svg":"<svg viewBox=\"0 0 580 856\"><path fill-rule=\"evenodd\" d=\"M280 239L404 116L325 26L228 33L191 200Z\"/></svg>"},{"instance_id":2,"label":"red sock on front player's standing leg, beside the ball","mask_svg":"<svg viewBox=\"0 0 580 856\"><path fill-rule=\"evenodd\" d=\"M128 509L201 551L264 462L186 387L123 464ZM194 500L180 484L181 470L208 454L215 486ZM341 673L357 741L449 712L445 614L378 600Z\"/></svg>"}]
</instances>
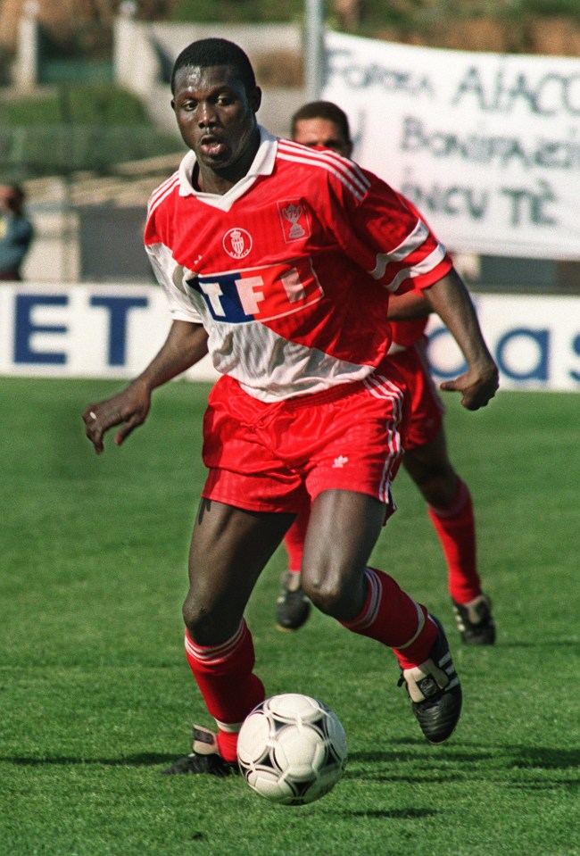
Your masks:
<instances>
[{"instance_id":1,"label":"red sock on front player's standing leg, beside the ball","mask_svg":"<svg viewBox=\"0 0 580 856\"><path fill-rule=\"evenodd\" d=\"M240 622L234 636L219 645L198 645L186 631L186 657L205 706L216 720L218 747L224 760L236 760L237 733L250 711L265 698L253 674L252 635Z\"/></svg>"}]
</instances>

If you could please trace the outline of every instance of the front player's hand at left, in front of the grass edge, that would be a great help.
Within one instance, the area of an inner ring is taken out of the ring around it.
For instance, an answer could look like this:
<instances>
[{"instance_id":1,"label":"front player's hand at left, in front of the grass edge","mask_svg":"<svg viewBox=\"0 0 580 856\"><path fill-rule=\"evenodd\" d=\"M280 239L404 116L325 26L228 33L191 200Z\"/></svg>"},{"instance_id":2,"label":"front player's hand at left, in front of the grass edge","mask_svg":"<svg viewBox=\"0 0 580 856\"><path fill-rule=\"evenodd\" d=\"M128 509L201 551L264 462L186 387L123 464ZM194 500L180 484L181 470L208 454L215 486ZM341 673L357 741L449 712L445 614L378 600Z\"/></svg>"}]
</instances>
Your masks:
<instances>
[{"instance_id":1,"label":"front player's hand at left, in front of the grass edge","mask_svg":"<svg viewBox=\"0 0 580 856\"><path fill-rule=\"evenodd\" d=\"M138 381L112 398L89 404L82 418L86 426L85 433L94 445L95 453L104 451L103 438L109 428L121 426L114 437L115 444L121 445L131 431L145 422L150 408L151 392Z\"/></svg>"}]
</instances>

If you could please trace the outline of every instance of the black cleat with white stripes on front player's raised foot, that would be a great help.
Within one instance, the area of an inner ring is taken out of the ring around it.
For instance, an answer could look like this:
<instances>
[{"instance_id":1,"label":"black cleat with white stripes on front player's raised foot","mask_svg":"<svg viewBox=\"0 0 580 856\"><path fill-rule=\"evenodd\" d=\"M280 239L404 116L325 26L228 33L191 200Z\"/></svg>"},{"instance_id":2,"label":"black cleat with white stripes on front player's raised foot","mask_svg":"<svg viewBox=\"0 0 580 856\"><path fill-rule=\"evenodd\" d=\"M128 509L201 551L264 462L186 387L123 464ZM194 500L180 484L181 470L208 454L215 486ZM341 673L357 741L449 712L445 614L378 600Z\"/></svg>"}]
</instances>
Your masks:
<instances>
[{"instance_id":1,"label":"black cleat with white stripes on front player's raised foot","mask_svg":"<svg viewBox=\"0 0 580 856\"><path fill-rule=\"evenodd\" d=\"M439 631L429 659L414 669L401 670L399 686L406 686L413 713L429 743L440 744L451 737L459 722L462 694L443 626L434 615L429 619Z\"/></svg>"}]
</instances>

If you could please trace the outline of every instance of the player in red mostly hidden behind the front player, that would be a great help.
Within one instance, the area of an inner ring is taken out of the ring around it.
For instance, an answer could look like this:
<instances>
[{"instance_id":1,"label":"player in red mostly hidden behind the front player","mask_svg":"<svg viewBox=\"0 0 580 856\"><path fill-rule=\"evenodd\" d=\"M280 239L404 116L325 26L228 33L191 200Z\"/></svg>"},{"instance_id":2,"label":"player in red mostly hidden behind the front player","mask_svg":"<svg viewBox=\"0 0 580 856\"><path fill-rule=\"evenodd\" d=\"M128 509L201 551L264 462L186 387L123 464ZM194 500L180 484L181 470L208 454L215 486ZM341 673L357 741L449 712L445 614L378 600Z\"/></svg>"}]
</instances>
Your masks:
<instances>
[{"instance_id":1,"label":"player in red mostly hidden behind the front player","mask_svg":"<svg viewBox=\"0 0 580 856\"><path fill-rule=\"evenodd\" d=\"M292 138L303 145L331 148L352 155L352 137L346 113L328 101L304 104L291 120ZM420 216L409 200L404 200ZM482 592L476 567L476 523L468 486L457 475L447 453L443 404L435 391L426 355L425 328L430 310L416 292L394 295L389 303L393 344L392 362L410 389L410 426L402 465L427 501L427 510L443 547L453 610L464 643L489 645L495 641L490 599ZM308 525L303 511L285 537L288 570L282 578L276 618L286 630L302 627L311 603L300 584L302 546Z\"/></svg>"}]
</instances>

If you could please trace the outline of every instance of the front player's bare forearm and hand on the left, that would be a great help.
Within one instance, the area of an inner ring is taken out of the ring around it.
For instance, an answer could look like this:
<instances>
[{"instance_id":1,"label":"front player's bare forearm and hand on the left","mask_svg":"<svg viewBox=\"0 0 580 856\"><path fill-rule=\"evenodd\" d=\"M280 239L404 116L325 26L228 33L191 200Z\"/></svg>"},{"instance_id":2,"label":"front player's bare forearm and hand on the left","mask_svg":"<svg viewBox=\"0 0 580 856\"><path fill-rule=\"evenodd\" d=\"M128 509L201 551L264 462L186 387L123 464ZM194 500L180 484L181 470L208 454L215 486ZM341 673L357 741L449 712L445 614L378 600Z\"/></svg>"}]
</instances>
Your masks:
<instances>
[{"instance_id":1,"label":"front player's bare forearm and hand on the left","mask_svg":"<svg viewBox=\"0 0 580 856\"><path fill-rule=\"evenodd\" d=\"M151 408L153 389L162 386L171 378L199 362L207 353L207 333L201 324L190 321L174 320L162 349L145 371L112 398L89 404L83 413L88 439L95 447L95 453L104 450L105 433L115 425L121 427L115 434L114 442L121 445L123 440L142 425Z\"/></svg>"}]
</instances>

